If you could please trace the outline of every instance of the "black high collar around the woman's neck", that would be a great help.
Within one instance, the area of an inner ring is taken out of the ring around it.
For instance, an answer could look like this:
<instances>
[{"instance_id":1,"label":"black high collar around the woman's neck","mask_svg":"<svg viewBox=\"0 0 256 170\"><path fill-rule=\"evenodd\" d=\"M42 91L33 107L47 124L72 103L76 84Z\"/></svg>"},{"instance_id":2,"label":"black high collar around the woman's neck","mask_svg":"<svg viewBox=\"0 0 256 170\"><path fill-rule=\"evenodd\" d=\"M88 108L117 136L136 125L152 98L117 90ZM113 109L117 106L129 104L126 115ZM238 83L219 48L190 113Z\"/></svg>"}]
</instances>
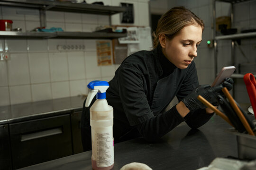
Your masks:
<instances>
[{"instance_id":1,"label":"black high collar around the woman's neck","mask_svg":"<svg viewBox=\"0 0 256 170\"><path fill-rule=\"evenodd\" d=\"M165 57L160 44L156 47L156 50L157 50L157 54L158 54L157 56L162 68L161 76L163 77L163 76L170 75L171 73L174 72L174 69L177 67Z\"/></svg>"}]
</instances>

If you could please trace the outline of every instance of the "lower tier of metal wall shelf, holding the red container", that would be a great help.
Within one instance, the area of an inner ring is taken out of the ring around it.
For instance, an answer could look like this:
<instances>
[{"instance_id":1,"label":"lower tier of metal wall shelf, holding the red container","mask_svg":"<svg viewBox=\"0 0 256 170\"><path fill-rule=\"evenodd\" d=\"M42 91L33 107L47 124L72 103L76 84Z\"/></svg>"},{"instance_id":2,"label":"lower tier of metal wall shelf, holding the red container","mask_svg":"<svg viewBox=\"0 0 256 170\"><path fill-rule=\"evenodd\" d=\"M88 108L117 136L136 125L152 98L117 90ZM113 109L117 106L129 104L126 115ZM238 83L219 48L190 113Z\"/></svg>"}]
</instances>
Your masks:
<instances>
[{"instance_id":1,"label":"lower tier of metal wall shelf, holding the red container","mask_svg":"<svg viewBox=\"0 0 256 170\"><path fill-rule=\"evenodd\" d=\"M29 39L48 39L48 38L72 38L72 39L113 39L127 36L126 33L105 33L105 32L16 32L0 31L0 38L29 38Z\"/></svg>"}]
</instances>

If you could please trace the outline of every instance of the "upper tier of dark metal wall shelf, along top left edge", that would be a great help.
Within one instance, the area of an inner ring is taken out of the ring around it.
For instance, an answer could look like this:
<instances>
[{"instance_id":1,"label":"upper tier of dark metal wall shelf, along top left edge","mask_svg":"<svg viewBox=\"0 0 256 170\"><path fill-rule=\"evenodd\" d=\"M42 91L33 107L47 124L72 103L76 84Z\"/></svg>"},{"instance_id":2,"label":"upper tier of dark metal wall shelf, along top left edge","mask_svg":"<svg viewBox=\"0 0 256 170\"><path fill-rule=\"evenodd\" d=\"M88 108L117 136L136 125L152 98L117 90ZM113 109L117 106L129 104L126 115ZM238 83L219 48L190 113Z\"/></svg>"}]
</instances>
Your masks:
<instances>
[{"instance_id":1,"label":"upper tier of dark metal wall shelf, along top left edge","mask_svg":"<svg viewBox=\"0 0 256 170\"><path fill-rule=\"evenodd\" d=\"M126 11L125 7L118 6L103 6L86 3L71 3L47 0L0 0L0 5L22 8L37 8L45 11L53 10L99 15L113 15Z\"/></svg>"}]
</instances>

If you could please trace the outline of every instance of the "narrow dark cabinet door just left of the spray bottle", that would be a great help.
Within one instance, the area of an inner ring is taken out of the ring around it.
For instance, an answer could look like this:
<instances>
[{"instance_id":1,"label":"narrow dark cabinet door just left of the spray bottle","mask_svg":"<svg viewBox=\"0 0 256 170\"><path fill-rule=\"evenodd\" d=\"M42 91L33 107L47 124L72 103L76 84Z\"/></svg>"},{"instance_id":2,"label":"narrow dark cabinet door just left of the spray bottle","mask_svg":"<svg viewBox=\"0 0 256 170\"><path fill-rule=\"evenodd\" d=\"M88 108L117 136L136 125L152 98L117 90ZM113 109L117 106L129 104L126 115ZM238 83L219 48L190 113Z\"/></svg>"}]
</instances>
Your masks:
<instances>
[{"instance_id":1,"label":"narrow dark cabinet door just left of the spray bottle","mask_svg":"<svg viewBox=\"0 0 256 170\"><path fill-rule=\"evenodd\" d=\"M73 153L82 153L82 138L81 138L81 111L74 111L71 114Z\"/></svg>"}]
</instances>

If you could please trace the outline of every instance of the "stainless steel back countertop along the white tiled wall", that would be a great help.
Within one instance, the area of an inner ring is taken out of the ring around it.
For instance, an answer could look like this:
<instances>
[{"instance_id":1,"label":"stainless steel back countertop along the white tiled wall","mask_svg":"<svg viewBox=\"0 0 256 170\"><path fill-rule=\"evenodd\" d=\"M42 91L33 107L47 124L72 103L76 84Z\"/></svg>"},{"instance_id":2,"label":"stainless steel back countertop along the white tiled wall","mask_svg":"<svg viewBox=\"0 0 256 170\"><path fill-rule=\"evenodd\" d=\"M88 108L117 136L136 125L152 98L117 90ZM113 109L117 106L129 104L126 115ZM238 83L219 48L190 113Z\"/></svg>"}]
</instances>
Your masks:
<instances>
[{"instance_id":1,"label":"stainless steel back countertop along the white tiled wall","mask_svg":"<svg viewBox=\"0 0 256 170\"><path fill-rule=\"evenodd\" d=\"M0 125L82 110L84 97L75 96L0 107Z\"/></svg>"}]
</instances>

